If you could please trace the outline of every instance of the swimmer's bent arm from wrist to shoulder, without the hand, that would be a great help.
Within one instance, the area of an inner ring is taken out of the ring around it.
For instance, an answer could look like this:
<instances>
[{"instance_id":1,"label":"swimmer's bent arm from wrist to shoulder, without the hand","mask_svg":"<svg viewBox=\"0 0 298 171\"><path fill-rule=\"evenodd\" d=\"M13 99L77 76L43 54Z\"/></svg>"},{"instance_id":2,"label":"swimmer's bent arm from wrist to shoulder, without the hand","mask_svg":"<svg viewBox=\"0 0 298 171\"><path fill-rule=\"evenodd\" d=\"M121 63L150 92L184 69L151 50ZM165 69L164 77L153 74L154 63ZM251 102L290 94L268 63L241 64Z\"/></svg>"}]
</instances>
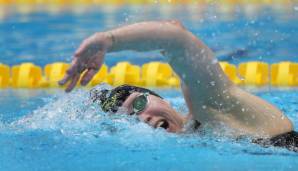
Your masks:
<instances>
[{"instance_id":1,"label":"swimmer's bent arm from wrist to shoulder, without the hand","mask_svg":"<svg viewBox=\"0 0 298 171\"><path fill-rule=\"evenodd\" d=\"M107 32L112 39L109 52L162 50L169 64L200 100L215 97L232 83L221 70L213 52L178 21L132 24Z\"/></svg>"}]
</instances>

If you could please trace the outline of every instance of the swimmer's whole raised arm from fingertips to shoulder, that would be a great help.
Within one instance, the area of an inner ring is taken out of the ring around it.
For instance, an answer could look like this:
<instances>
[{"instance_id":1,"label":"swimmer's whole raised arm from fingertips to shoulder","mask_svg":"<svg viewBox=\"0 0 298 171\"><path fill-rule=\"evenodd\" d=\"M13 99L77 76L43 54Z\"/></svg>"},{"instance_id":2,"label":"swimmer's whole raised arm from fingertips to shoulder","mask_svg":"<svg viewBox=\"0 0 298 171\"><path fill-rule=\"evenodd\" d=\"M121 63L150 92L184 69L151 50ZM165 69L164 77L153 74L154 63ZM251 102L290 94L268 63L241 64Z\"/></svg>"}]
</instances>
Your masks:
<instances>
[{"instance_id":1,"label":"swimmer's whole raised arm from fingertips to shoulder","mask_svg":"<svg viewBox=\"0 0 298 171\"><path fill-rule=\"evenodd\" d=\"M105 53L122 50L162 50L196 104L218 99L231 85L213 52L177 21L142 22L96 33L78 48L60 84L70 81L67 86L70 91L86 71L81 79L81 84L86 85L103 63Z\"/></svg>"}]
</instances>

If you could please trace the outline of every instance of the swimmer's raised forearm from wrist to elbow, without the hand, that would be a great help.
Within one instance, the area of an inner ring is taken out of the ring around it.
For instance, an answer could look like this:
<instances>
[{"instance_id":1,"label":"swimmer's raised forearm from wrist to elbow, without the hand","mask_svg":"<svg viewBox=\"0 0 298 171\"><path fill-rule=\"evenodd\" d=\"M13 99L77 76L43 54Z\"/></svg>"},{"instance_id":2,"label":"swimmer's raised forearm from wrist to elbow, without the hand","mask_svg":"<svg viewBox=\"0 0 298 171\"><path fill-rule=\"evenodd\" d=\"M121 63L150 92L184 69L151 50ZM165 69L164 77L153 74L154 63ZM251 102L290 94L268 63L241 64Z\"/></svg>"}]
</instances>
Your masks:
<instances>
[{"instance_id":1,"label":"swimmer's raised forearm from wrist to elbow, without the hand","mask_svg":"<svg viewBox=\"0 0 298 171\"><path fill-rule=\"evenodd\" d=\"M151 21L106 32L113 39L109 52L182 49L186 32L170 21Z\"/></svg>"}]
</instances>

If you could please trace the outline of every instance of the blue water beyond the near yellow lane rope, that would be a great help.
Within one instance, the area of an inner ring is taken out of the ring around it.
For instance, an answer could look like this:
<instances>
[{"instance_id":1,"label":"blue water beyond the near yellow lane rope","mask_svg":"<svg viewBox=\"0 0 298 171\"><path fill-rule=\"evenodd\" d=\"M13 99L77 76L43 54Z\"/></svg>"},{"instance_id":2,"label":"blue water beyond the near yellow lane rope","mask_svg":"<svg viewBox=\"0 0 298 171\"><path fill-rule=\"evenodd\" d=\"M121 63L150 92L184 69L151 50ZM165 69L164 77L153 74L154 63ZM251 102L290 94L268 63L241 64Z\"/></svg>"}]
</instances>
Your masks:
<instances>
[{"instance_id":1,"label":"blue water beyond the near yellow lane rope","mask_svg":"<svg viewBox=\"0 0 298 171\"><path fill-rule=\"evenodd\" d=\"M31 7L0 6L0 62L69 62L87 36L119 25L146 20L178 19L217 52L221 60L238 64L261 60L298 62L298 5L273 7L124 6ZM31 12L30 12L31 11ZM106 63L119 60L142 64L161 60L157 53L110 54Z\"/></svg>"}]
</instances>

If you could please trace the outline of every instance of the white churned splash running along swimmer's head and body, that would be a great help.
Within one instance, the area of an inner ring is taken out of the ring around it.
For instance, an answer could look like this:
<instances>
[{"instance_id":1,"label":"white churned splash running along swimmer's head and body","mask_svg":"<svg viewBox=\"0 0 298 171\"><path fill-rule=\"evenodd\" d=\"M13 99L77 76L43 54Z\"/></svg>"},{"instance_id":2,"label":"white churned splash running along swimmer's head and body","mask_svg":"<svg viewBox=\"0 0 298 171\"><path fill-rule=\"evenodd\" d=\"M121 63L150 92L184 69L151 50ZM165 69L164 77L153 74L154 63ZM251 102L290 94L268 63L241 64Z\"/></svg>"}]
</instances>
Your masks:
<instances>
[{"instance_id":1,"label":"white churned splash running along swimmer's head and body","mask_svg":"<svg viewBox=\"0 0 298 171\"><path fill-rule=\"evenodd\" d=\"M159 93L159 92L158 92ZM175 93L161 93L174 108L187 111L183 97ZM0 133L27 135L27 133L44 132L58 134L70 142L88 142L95 146L120 145L131 150L170 149L185 147L189 149L210 149L224 154L249 153L257 151L276 154L275 148L264 149L249 140L231 141L216 133L171 134L163 129L153 129L135 117L125 114L105 114L100 107L89 99L89 92L78 90L70 94L58 95L47 104L32 113L11 122L1 122ZM297 119L296 119L297 120ZM223 127L221 127L223 129ZM275 151L274 151L274 150ZM259 153L258 153L259 154Z\"/></svg>"}]
</instances>

